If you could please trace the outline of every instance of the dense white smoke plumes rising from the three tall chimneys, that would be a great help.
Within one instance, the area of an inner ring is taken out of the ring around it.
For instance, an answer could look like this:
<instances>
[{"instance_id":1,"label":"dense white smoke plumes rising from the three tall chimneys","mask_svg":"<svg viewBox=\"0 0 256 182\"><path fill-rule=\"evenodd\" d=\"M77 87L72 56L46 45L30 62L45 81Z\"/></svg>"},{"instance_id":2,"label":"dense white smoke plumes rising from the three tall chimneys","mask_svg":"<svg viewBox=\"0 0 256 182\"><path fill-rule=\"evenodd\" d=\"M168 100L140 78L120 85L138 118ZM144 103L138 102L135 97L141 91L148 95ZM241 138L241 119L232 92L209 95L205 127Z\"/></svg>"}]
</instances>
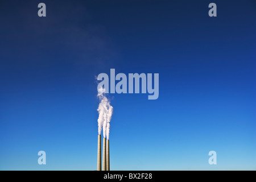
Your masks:
<instances>
[{"instance_id":1,"label":"dense white smoke plumes rising from the three tall chimneys","mask_svg":"<svg viewBox=\"0 0 256 182\"><path fill-rule=\"evenodd\" d=\"M98 134L101 134L103 129L103 137L109 139L110 120L112 118L113 107L110 105L110 101L105 96L105 89L99 88L97 97L100 99L98 105Z\"/></svg>"}]
</instances>

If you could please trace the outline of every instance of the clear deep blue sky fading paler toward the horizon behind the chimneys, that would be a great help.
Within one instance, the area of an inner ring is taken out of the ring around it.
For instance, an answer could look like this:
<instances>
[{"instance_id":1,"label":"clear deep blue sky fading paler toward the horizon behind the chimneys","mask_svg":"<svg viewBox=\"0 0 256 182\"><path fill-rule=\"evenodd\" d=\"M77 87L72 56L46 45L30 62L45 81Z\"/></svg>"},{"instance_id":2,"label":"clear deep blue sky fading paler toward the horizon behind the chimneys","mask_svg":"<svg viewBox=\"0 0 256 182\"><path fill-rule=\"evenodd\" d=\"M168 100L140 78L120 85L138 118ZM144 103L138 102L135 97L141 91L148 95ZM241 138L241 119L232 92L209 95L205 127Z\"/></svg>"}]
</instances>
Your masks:
<instances>
[{"instance_id":1,"label":"clear deep blue sky fading paler toward the horizon behind the chimneys","mask_svg":"<svg viewBox=\"0 0 256 182\"><path fill-rule=\"evenodd\" d=\"M255 17L255 1L0 1L0 169L97 169L95 76L115 68L159 73L159 98L108 95L110 169L255 170Z\"/></svg>"}]
</instances>

